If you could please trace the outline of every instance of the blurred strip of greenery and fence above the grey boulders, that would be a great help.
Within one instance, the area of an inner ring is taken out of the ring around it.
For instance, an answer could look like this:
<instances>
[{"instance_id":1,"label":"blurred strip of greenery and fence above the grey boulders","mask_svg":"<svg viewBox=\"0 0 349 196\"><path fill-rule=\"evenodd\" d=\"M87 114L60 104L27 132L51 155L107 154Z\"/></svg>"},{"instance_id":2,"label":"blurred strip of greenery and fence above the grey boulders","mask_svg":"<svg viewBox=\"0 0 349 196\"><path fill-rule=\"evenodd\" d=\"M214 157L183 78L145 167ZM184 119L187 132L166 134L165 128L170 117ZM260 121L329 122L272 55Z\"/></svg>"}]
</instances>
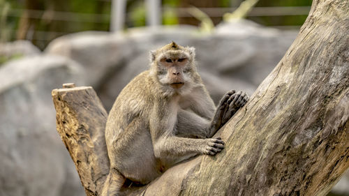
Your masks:
<instances>
[{"instance_id":1,"label":"blurred strip of greenery and fence above the grey boulders","mask_svg":"<svg viewBox=\"0 0 349 196\"><path fill-rule=\"evenodd\" d=\"M79 31L119 31L147 24L198 26L202 20L193 7L216 25L240 3L242 0L0 0L1 40L31 40L42 50L54 38ZM255 5L246 13L248 20L278 29L299 29L311 6L311 0L251 3Z\"/></svg>"}]
</instances>

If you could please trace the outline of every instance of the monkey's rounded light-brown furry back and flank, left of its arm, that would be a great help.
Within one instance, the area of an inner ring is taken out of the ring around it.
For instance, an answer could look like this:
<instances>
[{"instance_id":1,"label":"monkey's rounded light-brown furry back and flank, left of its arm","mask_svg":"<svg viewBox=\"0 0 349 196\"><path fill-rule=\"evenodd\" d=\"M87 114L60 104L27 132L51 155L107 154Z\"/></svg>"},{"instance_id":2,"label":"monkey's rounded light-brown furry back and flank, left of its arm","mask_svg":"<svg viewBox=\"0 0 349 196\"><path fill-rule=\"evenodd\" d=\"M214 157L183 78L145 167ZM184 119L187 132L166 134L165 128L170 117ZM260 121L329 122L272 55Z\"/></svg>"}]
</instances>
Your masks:
<instances>
[{"instance_id":1,"label":"monkey's rounded light-brown furry back and flank, left of its arm","mask_svg":"<svg viewBox=\"0 0 349 196\"><path fill-rule=\"evenodd\" d=\"M105 128L111 167L140 183L149 183L160 174L149 132L152 86L149 71L131 80L117 97Z\"/></svg>"}]
</instances>

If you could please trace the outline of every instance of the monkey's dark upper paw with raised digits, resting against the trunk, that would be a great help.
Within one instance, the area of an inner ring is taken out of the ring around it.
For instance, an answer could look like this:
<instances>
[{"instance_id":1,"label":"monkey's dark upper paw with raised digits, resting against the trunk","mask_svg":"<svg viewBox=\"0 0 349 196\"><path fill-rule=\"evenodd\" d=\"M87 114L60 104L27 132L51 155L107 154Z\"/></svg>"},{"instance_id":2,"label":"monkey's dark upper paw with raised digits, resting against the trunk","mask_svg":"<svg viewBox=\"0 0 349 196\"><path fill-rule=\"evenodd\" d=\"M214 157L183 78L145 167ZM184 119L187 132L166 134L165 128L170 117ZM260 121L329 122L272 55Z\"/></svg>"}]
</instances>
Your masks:
<instances>
[{"instance_id":1,"label":"monkey's dark upper paw with raised digits, resting against the trunk","mask_svg":"<svg viewBox=\"0 0 349 196\"><path fill-rule=\"evenodd\" d=\"M216 133L247 101L248 96L242 91L235 93L234 90L230 90L225 93L218 104L216 114L214 114L214 119L211 123L211 133Z\"/></svg>"}]
</instances>

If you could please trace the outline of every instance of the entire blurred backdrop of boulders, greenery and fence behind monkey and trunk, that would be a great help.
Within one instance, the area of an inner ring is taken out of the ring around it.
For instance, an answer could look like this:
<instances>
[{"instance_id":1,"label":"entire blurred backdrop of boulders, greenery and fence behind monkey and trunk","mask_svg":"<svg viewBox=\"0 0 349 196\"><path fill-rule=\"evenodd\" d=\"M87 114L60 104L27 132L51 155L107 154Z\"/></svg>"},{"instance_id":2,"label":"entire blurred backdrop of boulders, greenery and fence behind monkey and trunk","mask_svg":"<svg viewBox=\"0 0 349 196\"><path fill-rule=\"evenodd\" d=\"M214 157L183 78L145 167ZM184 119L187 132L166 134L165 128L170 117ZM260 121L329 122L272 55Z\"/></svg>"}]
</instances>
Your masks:
<instances>
[{"instance_id":1,"label":"entire blurred backdrop of boulders, greenery and fence behind monkey and trunk","mask_svg":"<svg viewBox=\"0 0 349 196\"><path fill-rule=\"evenodd\" d=\"M0 0L0 196L84 195L55 130L52 89L93 86L109 111L149 50L196 48L217 103L251 96L283 58L311 0ZM349 195L349 174L329 196Z\"/></svg>"}]
</instances>

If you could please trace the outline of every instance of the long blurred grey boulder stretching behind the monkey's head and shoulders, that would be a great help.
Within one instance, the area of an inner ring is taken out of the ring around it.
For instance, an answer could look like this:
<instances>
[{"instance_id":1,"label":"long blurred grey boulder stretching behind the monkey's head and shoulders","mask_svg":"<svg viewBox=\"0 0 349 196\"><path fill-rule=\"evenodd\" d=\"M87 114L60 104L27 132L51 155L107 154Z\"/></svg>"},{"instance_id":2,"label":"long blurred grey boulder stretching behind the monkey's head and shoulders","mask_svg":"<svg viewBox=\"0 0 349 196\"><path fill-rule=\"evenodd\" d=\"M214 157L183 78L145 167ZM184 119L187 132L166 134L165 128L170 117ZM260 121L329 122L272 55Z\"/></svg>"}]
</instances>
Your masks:
<instances>
[{"instance_id":1,"label":"long blurred grey boulder stretching behind the monkey's head and shoulders","mask_svg":"<svg viewBox=\"0 0 349 196\"><path fill-rule=\"evenodd\" d=\"M202 34L188 26L131 29L128 33L84 32L54 40L47 54L68 56L87 68L109 110L124 86L149 67L149 50L170 43L196 48L198 70L215 102L230 89L250 95L280 61L297 31L280 31L242 20Z\"/></svg>"}]
</instances>

